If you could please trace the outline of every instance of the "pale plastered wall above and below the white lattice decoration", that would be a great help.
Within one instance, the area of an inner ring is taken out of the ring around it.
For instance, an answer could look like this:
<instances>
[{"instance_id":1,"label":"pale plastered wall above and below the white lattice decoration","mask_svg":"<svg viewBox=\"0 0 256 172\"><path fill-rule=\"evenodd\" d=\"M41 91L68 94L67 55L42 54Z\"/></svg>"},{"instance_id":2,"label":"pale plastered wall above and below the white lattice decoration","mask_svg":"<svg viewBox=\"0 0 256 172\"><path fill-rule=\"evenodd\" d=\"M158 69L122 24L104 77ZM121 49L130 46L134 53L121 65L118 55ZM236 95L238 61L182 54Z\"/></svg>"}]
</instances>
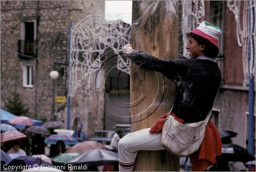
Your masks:
<instances>
[{"instance_id":1,"label":"pale plastered wall above and below the white lattice decoration","mask_svg":"<svg viewBox=\"0 0 256 172\"><path fill-rule=\"evenodd\" d=\"M104 1L69 1L70 19L73 26L90 14L104 14L105 2ZM104 72L101 73L104 76ZM94 81L95 73L93 73L92 80ZM104 77L102 77L104 78ZM89 78L87 79L89 80ZM94 88L94 83L91 82L91 87ZM97 89L97 96L94 94L93 89L91 95L88 92L88 84L77 89L74 97L71 98L71 116L70 127L72 130L76 129L74 121L79 119L79 123L83 125L83 131L86 132L90 138L94 131L102 130L104 127L104 85L103 82L99 83L101 86ZM93 96L93 97L91 97ZM96 96L96 97L95 97ZM92 99L100 101L92 101ZM63 114L65 122L67 123L67 107Z\"/></svg>"}]
</instances>

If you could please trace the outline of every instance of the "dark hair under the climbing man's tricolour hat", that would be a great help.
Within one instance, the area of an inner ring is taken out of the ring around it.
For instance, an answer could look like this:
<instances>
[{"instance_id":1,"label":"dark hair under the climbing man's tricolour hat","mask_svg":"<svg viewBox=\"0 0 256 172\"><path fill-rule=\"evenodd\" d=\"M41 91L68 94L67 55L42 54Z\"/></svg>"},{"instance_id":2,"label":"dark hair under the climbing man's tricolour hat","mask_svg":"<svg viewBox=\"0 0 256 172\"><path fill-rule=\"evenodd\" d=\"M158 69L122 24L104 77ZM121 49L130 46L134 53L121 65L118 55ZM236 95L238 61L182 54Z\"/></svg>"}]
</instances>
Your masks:
<instances>
[{"instance_id":1,"label":"dark hair under the climbing man's tricolour hat","mask_svg":"<svg viewBox=\"0 0 256 172\"><path fill-rule=\"evenodd\" d=\"M188 33L187 36L196 39L198 45L205 46L204 50L202 51L204 55L213 58L216 58L218 56L219 48L212 44L208 39L194 33Z\"/></svg>"}]
</instances>

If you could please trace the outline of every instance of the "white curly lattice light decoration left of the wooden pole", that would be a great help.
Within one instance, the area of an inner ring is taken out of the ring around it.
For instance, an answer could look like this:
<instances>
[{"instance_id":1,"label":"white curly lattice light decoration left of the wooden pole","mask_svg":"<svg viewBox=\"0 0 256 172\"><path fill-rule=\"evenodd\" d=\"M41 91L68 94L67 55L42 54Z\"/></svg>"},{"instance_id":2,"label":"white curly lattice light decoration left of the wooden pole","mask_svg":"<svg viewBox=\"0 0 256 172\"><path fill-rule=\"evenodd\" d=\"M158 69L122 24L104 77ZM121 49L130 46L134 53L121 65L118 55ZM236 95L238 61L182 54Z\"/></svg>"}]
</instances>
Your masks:
<instances>
[{"instance_id":1,"label":"white curly lattice light decoration left of the wooden pole","mask_svg":"<svg viewBox=\"0 0 256 172\"><path fill-rule=\"evenodd\" d=\"M118 58L117 68L130 74L130 60L120 54L121 48L130 42L131 25L120 19L105 20L114 17L120 18L120 15L88 15L72 27L70 96L75 95L78 87L88 84L90 73L99 70L100 58L107 51L113 50Z\"/></svg>"}]
</instances>

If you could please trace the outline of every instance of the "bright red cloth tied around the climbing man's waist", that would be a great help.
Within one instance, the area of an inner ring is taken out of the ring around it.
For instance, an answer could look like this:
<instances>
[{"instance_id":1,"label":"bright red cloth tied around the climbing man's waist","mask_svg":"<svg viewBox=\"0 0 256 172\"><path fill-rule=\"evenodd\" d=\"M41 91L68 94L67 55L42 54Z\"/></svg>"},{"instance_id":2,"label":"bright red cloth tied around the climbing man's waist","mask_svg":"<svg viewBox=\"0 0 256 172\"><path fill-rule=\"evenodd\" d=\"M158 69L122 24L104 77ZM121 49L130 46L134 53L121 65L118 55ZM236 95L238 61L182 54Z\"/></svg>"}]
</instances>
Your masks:
<instances>
[{"instance_id":1,"label":"bright red cloth tied around the climbing man's waist","mask_svg":"<svg viewBox=\"0 0 256 172\"><path fill-rule=\"evenodd\" d=\"M162 132L163 125L169 113L164 114L151 127L151 133ZM171 114L177 121L184 123L184 120L178 118L174 113ZM199 150L190 155L190 161L193 164L193 171L203 171L207 167L216 163L216 156L221 155L221 137L214 122L209 121L205 127L205 135Z\"/></svg>"}]
</instances>

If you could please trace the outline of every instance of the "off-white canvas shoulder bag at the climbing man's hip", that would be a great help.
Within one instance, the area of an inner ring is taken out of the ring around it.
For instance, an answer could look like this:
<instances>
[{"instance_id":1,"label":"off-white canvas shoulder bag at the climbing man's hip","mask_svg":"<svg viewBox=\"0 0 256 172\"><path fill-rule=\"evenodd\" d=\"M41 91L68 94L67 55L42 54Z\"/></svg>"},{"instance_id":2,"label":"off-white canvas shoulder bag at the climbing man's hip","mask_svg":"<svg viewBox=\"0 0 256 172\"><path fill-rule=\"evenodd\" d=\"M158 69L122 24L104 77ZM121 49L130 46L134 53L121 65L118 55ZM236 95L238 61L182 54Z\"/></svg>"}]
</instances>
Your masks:
<instances>
[{"instance_id":1,"label":"off-white canvas shoulder bag at the climbing man's hip","mask_svg":"<svg viewBox=\"0 0 256 172\"><path fill-rule=\"evenodd\" d=\"M180 123L170 115L172 110L173 108L163 126L161 144L168 152L180 157L187 157L199 149L212 108L204 121L187 124Z\"/></svg>"}]
</instances>

